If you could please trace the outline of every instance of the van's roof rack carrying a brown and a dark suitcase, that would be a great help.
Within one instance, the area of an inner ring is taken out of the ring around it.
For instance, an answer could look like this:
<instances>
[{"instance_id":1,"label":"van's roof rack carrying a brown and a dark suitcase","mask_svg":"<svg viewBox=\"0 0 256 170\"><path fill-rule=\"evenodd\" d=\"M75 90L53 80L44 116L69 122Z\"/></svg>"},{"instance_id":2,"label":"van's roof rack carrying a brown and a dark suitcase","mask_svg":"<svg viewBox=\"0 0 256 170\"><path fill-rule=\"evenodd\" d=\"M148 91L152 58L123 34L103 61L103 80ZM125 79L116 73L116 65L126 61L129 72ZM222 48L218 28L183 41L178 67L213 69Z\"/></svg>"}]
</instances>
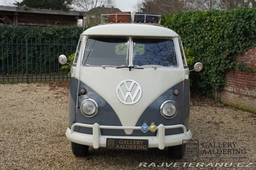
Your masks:
<instances>
[{"instance_id":1,"label":"van's roof rack carrying a brown and a dark suitcase","mask_svg":"<svg viewBox=\"0 0 256 170\"><path fill-rule=\"evenodd\" d=\"M101 15L101 23L144 23L160 24L161 15L154 13L135 12L108 12Z\"/></svg>"}]
</instances>

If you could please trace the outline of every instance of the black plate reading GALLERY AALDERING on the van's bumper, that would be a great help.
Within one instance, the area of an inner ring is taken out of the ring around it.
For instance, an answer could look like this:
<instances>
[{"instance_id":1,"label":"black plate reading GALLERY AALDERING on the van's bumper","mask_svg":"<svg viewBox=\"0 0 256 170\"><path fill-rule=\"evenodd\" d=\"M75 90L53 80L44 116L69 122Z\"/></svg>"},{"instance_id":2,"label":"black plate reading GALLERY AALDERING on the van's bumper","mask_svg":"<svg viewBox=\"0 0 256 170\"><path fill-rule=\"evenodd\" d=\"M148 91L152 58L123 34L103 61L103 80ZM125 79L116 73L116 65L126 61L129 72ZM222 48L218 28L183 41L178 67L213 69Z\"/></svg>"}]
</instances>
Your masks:
<instances>
[{"instance_id":1,"label":"black plate reading GALLERY AALDERING on the van's bumper","mask_svg":"<svg viewBox=\"0 0 256 170\"><path fill-rule=\"evenodd\" d=\"M106 148L148 151L148 140L107 138Z\"/></svg>"}]
</instances>

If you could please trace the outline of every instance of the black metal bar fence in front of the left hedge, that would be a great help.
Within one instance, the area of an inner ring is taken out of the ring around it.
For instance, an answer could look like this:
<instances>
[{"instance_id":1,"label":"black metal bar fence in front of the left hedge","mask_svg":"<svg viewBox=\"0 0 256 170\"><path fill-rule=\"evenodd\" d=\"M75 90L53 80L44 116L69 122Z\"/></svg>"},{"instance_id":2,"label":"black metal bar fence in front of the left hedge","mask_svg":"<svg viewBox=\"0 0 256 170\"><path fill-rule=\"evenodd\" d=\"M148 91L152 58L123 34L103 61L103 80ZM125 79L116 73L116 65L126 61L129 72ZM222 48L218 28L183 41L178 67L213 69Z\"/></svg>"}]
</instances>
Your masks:
<instances>
[{"instance_id":1,"label":"black metal bar fence in front of the left hedge","mask_svg":"<svg viewBox=\"0 0 256 170\"><path fill-rule=\"evenodd\" d=\"M78 40L1 39L0 82L65 81L69 70L61 69L61 54L76 51Z\"/></svg>"}]
</instances>

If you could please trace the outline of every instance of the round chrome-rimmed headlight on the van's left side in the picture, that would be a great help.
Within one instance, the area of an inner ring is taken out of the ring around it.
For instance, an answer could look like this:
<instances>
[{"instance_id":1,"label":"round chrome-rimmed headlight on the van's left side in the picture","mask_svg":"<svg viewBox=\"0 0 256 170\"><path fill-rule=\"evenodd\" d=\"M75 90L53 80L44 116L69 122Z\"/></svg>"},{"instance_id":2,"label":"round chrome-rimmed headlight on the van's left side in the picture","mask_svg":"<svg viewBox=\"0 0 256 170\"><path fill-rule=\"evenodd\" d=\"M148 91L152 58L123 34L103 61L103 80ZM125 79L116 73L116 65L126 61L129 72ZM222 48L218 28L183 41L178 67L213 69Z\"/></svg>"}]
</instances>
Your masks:
<instances>
[{"instance_id":1,"label":"round chrome-rimmed headlight on the van's left side in the picture","mask_svg":"<svg viewBox=\"0 0 256 170\"><path fill-rule=\"evenodd\" d=\"M85 117L91 118L98 113L98 104L95 100L88 98L82 101L80 110Z\"/></svg>"}]
</instances>

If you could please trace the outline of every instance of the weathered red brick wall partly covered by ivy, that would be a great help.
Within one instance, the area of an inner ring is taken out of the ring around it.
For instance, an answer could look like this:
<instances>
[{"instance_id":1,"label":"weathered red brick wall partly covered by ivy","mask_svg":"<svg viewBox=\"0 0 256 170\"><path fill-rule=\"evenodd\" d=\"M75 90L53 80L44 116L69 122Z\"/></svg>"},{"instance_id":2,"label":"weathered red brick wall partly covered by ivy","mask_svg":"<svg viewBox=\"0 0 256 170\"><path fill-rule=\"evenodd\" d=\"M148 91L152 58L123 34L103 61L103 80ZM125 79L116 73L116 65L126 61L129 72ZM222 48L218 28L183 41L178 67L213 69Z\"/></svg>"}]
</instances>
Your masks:
<instances>
[{"instance_id":1,"label":"weathered red brick wall partly covered by ivy","mask_svg":"<svg viewBox=\"0 0 256 170\"><path fill-rule=\"evenodd\" d=\"M256 48L243 52L236 60L256 68ZM256 73L244 73L237 69L227 72L226 87L215 96L222 103L256 112Z\"/></svg>"}]
</instances>

